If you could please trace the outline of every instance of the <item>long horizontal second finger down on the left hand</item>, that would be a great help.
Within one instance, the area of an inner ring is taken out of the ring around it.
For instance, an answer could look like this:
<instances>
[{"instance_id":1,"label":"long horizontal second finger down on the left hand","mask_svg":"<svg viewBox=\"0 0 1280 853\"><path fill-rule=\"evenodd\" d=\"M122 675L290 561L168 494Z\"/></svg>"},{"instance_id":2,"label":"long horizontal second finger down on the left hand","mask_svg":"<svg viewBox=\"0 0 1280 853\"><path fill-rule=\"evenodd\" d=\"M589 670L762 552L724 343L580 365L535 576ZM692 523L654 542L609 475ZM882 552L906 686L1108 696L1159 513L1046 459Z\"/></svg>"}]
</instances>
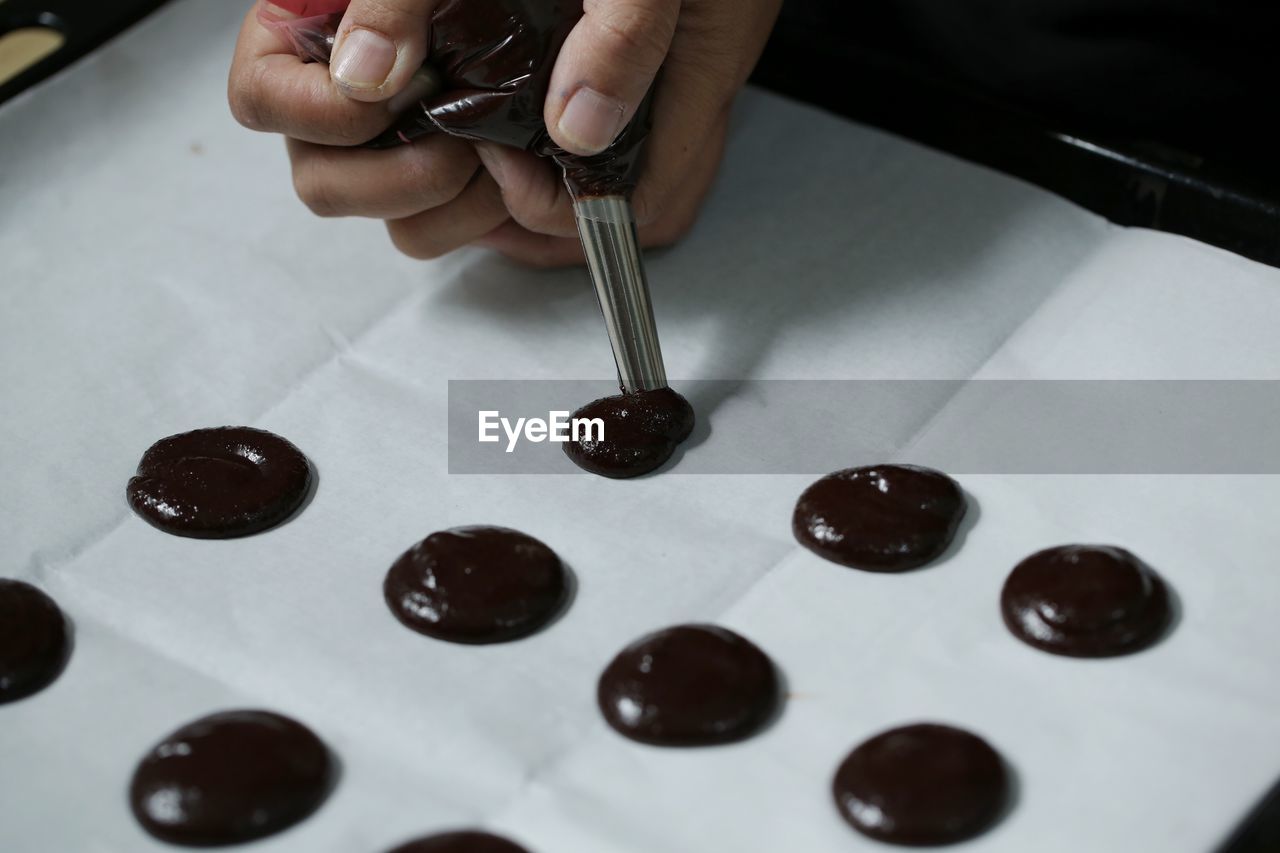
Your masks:
<instances>
[{"instance_id":1,"label":"long horizontal second finger down on the left hand","mask_svg":"<svg viewBox=\"0 0 1280 853\"><path fill-rule=\"evenodd\" d=\"M287 145L293 188L319 216L410 216L454 200L480 169L470 143L444 134L383 151Z\"/></svg>"}]
</instances>

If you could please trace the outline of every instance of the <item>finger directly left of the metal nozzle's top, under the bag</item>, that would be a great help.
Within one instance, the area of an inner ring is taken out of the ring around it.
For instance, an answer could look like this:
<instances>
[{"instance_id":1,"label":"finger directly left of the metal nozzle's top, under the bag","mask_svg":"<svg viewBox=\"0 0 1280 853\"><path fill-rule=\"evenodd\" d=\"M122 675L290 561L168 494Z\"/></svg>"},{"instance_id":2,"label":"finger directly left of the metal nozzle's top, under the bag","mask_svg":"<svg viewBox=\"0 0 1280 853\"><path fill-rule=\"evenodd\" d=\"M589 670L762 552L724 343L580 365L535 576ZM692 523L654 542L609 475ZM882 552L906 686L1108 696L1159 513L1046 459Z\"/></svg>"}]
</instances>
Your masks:
<instances>
[{"instance_id":1,"label":"finger directly left of the metal nozzle's top, under the bag","mask_svg":"<svg viewBox=\"0 0 1280 853\"><path fill-rule=\"evenodd\" d=\"M502 187L502 197L512 219L524 228L543 234L577 234L573 202L554 163L492 142L479 142L476 152Z\"/></svg>"}]
</instances>

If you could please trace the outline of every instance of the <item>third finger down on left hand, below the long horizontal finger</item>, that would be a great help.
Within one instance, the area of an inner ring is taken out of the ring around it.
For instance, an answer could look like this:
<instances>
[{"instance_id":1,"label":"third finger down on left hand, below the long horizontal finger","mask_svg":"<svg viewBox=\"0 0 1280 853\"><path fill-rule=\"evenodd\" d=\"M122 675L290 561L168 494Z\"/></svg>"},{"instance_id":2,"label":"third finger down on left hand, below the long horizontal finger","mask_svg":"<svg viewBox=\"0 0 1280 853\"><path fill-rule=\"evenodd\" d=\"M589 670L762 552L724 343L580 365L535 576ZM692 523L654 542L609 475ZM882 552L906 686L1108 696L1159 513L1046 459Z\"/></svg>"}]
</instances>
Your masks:
<instances>
[{"instance_id":1,"label":"third finger down on left hand, below the long horizontal finger","mask_svg":"<svg viewBox=\"0 0 1280 853\"><path fill-rule=\"evenodd\" d=\"M475 242L508 220L497 182L480 169L449 204L393 219L387 231L398 250L410 257L430 260Z\"/></svg>"}]
</instances>

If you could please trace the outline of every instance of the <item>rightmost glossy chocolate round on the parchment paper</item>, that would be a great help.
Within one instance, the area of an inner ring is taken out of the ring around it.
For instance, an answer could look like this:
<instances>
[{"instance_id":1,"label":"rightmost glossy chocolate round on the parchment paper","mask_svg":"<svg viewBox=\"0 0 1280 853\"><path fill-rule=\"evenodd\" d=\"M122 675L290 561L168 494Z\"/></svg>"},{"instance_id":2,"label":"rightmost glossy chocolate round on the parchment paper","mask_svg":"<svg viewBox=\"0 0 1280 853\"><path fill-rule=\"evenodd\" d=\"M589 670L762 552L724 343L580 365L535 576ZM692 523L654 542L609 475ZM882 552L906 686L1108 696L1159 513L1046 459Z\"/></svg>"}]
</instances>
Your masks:
<instances>
[{"instance_id":1,"label":"rightmost glossy chocolate round on the parchment paper","mask_svg":"<svg viewBox=\"0 0 1280 853\"><path fill-rule=\"evenodd\" d=\"M1160 575L1110 546L1060 546L1027 557L1005 580L1000 612L1018 639L1070 657L1137 652L1171 617Z\"/></svg>"}]
</instances>

